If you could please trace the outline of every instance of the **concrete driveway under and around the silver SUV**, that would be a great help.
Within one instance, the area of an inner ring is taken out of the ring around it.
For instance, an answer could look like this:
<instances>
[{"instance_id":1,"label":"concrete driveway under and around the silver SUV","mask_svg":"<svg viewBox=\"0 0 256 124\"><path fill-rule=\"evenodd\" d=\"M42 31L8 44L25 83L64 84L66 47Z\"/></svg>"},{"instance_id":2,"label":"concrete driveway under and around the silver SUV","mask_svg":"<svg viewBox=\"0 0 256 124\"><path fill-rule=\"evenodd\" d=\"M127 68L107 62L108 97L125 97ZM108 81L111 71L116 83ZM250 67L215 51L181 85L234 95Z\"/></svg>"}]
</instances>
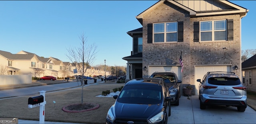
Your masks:
<instances>
[{"instance_id":1,"label":"concrete driveway under and around the silver SUV","mask_svg":"<svg viewBox=\"0 0 256 124\"><path fill-rule=\"evenodd\" d=\"M256 111L247 106L245 112L236 107L206 106L200 109L198 96L180 97L179 106L171 106L168 124L256 124Z\"/></svg>"}]
</instances>

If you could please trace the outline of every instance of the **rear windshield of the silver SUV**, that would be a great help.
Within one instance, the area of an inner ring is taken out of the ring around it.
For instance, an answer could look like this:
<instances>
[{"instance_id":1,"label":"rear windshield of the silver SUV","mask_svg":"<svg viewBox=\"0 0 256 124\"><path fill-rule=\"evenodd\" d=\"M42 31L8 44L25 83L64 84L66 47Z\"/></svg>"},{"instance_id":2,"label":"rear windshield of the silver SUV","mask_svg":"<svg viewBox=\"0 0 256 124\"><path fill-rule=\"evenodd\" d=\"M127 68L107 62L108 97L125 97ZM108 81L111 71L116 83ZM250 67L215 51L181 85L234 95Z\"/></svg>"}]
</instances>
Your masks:
<instances>
[{"instance_id":1,"label":"rear windshield of the silver SUV","mask_svg":"<svg viewBox=\"0 0 256 124\"><path fill-rule=\"evenodd\" d=\"M241 84L239 78L230 78L230 77L212 77L208 79L208 83L213 85L224 85L224 86Z\"/></svg>"}]
</instances>

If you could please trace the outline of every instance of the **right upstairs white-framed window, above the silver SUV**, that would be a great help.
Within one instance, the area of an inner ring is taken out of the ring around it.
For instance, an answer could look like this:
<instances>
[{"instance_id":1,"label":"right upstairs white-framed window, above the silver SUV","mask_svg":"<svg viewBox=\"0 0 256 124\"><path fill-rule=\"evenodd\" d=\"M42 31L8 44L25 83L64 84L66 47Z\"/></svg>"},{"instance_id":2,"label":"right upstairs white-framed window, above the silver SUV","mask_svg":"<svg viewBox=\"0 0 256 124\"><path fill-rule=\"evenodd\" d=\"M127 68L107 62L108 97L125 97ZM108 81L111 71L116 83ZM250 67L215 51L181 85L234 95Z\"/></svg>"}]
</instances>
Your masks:
<instances>
[{"instance_id":1,"label":"right upstairs white-framed window, above the silver SUV","mask_svg":"<svg viewBox=\"0 0 256 124\"><path fill-rule=\"evenodd\" d=\"M201 21L200 41L227 40L227 21Z\"/></svg>"}]
</instances>

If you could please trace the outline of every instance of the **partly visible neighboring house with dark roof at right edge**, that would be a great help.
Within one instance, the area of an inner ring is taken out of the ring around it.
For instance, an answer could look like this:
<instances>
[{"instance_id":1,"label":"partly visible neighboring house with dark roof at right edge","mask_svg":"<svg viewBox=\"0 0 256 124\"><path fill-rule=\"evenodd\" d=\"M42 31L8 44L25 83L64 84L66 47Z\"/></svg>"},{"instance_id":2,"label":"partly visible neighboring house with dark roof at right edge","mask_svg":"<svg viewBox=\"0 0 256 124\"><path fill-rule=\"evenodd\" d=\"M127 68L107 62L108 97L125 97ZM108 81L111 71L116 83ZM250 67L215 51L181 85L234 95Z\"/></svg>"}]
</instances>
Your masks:
<instances>
[{"instance_id":1,"label":"partly visible neighboring house with dark roof at right edge","mask_svg":"<svg viewBox=\"0 0 256 124\"><path fill-rule=\"evenodd\" d=\"M256 55L242 63L242 82L247 90L256 92Z\"/></svg>"}]
</instances>

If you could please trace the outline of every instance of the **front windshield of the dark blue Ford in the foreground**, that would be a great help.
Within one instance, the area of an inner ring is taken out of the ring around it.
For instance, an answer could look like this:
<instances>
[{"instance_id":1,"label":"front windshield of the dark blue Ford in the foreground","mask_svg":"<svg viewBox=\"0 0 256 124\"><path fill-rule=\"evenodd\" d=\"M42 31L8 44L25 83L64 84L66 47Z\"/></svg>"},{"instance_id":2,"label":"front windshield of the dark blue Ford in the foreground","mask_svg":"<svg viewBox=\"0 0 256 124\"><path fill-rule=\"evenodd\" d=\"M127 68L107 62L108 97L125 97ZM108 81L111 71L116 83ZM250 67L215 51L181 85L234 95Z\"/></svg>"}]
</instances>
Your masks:
<instances>
[{"instance_id":1,"label":"front windshield of the dark blue Ford in the foreground","mask_svg":"<svg viewBox=\"0 0 256 124\"><path fill-rule=\"evenodd\" d=\"M117 101L130 104L158 104L162 101L161 90L161 86L124 86Z\"/></svg>"}]
</instances>

